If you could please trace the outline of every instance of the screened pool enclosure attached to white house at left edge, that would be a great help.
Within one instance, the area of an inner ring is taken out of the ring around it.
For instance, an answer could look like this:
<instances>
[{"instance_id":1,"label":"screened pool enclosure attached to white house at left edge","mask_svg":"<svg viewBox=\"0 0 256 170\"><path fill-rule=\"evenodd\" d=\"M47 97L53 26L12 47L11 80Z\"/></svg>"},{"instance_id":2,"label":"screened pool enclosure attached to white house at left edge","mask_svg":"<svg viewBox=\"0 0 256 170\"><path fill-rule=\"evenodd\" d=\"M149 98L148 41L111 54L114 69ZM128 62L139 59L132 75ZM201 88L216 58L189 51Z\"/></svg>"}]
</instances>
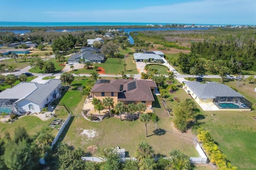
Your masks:
<instances>
[{"instance_id":1,"label":"screened pool enclosure attached to white house at left edge","mask_svg":"<svg viewBox=\"0 0 256 170\"><path fill-rule=\"evenodd\" d=\"M8 114L17 114L18 108L16 104L14 104L18 99L0 99L0 114L8 113Z\"/></svg>"}]
</instances>

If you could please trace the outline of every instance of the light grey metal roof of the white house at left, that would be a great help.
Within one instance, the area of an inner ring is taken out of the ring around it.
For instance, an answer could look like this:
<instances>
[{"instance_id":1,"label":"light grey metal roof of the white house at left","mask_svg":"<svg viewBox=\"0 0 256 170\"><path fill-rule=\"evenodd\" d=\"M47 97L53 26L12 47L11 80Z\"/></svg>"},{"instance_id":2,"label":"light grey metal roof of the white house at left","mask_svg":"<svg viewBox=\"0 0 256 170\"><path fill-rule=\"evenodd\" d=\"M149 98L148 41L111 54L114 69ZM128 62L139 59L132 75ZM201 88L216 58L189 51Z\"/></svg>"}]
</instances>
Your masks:
<instances>
[{"instance_id":1,"label":"light grey metal roof of the white house at left","mask_svg":"<svg viewBox=\"0 0 256 170\"><path fill-rule=\"evenodd\" d=\"M11 89L0 93L0 99L28 99L31 102L40 104L46 97L61 83L59 79L50 79L45 84L36 82L22 82Z\"/></svg>"}]
</instances>

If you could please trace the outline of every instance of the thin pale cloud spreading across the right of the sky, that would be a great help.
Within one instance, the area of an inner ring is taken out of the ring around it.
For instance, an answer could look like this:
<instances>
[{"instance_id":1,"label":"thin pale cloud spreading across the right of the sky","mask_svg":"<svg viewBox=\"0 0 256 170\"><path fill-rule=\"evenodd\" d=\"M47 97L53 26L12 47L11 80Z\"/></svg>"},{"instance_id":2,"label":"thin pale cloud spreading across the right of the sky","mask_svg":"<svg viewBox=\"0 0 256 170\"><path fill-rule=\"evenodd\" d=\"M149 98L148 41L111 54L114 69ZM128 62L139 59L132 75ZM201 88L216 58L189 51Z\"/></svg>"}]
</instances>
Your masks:
<instances>
[{"instance_id":1,"label":"thin pale cloud spreading across the right of the sky","mask_svg":"<svg viewBox=\"0 0 256 170\"><path fill-rule=\"evenodd\" d=\"M194 24L256 24L254 0L202 0L131 10L44 12L60 22L157 22Z\"/></svg>"}]
</instances>

